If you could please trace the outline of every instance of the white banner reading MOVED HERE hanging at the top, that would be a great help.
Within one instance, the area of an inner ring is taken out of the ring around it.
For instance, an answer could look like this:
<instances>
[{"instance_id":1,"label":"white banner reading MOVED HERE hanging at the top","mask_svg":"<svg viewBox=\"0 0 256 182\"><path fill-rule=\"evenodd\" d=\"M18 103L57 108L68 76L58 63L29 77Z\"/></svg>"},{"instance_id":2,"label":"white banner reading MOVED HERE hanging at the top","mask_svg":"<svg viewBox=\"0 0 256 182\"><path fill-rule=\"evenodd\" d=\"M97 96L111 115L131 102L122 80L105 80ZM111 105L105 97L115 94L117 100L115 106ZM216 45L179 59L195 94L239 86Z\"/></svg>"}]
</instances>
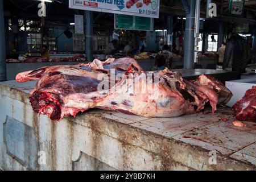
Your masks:
<instances>
[{"instance_id":1,"label":"white banner reading MOVED HERE hanging at the top","mask_svg":"<svg viewBox=\"0 0 256 182\"><path fill-rule=\"evenodd\" d=\"M69 0L69 8L159 18L160 0Z\"/></svg>"}]
</instances>

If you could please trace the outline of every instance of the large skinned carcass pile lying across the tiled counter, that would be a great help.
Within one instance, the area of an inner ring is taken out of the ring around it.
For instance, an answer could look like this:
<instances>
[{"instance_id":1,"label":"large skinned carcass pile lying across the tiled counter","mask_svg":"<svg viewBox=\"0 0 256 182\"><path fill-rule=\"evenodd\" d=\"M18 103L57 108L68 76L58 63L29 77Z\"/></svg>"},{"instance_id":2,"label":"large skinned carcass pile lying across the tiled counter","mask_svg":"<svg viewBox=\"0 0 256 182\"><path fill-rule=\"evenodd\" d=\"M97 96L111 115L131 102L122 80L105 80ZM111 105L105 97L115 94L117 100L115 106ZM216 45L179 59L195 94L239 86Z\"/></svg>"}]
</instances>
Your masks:
<instances>
[{"instance_id":1,"label":"large skinned carcass pile lying across the tiled counter","mask_svg":"<svg viewBox=\"0 0 256 182\"><path fill-rule=\"evenodd\" d=\"M213 77L202 75L192 82L168 69L144 72L131 58L44 67L16 76L18 82L30 80L38 80L30 96L33 110L55 121L91 108L179 117L203 110L207 102L214 112L232 96Z\"/></svg>"}]
</instances>

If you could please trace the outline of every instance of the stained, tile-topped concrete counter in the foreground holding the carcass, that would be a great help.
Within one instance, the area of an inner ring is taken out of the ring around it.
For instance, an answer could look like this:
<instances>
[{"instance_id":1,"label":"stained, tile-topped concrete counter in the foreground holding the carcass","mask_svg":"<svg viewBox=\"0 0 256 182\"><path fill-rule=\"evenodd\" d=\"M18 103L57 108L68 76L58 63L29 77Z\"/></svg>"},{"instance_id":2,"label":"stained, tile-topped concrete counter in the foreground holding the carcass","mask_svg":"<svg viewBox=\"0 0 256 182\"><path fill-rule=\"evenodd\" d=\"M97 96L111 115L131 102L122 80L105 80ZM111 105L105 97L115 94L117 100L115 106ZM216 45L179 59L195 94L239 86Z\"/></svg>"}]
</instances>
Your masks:
<instances>
[{"instance_id":1,"label":"stained, tile-topped concrete counter in the foreground holding the carcass","mask_svg":"<svg viewBox=\"0 0 256 182\"><path fill-rule=\"evenodd\" d=\"M34 85L0 83L0 164L5 170L256 169L255 123L233 126L228 107L177 118L91 110L52 122L32 111L28 93Z\"/></svg>"}]
</instances>

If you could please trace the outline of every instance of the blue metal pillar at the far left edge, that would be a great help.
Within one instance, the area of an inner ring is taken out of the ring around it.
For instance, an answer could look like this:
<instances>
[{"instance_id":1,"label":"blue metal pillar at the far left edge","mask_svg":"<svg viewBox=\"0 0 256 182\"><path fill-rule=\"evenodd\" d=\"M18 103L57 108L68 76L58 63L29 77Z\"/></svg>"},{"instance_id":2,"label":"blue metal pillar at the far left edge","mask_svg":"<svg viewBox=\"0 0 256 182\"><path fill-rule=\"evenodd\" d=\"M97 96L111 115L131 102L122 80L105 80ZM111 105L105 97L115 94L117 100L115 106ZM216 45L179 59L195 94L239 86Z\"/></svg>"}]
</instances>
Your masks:
<instances>
[{"instance_id":1,"label":"blue metal pillar at the far left edge","mask_svg":"<svg viewBox=\"0 0 256 182\"><path fill-rule=\"evenodd\" d=\"M0 81L6 81L5 23L3 20L3 0L0 0Z\"/></svg>"}]
</instances>

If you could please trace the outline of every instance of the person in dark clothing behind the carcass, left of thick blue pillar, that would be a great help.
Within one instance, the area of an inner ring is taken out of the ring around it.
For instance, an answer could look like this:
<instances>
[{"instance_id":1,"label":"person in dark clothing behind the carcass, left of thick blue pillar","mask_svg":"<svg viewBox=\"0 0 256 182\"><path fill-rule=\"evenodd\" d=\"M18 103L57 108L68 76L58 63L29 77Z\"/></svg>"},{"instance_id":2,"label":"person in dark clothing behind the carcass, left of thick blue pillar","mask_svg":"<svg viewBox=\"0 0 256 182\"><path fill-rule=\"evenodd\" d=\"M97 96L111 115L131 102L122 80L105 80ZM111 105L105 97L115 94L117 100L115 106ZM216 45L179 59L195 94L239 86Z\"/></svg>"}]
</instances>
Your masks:
<instances>
[{"instance_id":1,"label":"person in dark clothing behind the carcass, left of thick blue pillar","mask_svg":"<svg viewBox=\"0 0 256 182\"><path fill-rule=\"evenodd\" d=\"M169 51L169 46L164 45L163 50L158 52L158 55L155 59L155 68L158 70L163 70L164 68L171 69L172 67L172 57L174 57L174 54Z\"/></svg>"}]
</instances>

